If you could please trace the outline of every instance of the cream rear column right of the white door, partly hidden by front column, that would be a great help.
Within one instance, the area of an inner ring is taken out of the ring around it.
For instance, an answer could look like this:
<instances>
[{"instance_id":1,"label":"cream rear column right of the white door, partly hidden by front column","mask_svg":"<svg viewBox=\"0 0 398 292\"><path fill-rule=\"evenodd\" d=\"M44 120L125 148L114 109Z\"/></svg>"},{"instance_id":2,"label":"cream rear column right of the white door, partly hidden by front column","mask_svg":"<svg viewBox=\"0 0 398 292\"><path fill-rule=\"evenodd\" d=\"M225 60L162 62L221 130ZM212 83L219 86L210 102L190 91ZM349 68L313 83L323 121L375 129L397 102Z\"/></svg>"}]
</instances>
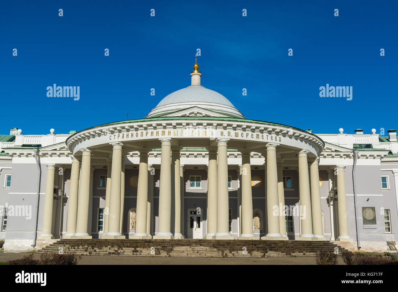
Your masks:
<instances>
[{"instance_id":1,"label":"cream rear column right of the white door, partly hidden by front column","mask_svg":"<svg viewBox=\"0 0 398 292\"><path fill-rule=\"evenodd\" d=\"M217 232L217 149L209 147L209 166L207 170L207 234L213 239Z\"/></svg>"}]
</instances>

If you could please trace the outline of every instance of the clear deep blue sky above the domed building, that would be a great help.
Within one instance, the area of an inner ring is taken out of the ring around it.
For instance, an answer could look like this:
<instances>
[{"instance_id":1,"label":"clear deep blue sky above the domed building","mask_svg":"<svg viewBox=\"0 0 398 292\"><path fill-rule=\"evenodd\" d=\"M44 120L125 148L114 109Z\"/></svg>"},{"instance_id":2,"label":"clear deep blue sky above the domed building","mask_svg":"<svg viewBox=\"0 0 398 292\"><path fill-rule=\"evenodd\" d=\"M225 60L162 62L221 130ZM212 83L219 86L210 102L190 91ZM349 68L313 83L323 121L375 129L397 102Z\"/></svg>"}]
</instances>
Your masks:
<instances>
[{"instance_id":1,"label":"clear deep blue sky above the domed building","mask_svg":"<svg viewBox=\"0 0 398 292\"><path fill-rule=\"evenodd\" d=\"M0 7L1 134L145 117L190 85L197 48L202 85L249 119L314 133L398 127L396 1L38 3ZM47 97L54 83L80 86L80 100ZM327 83L353 86L352 100L321 98Z\"/></svg>"}]
</instances>

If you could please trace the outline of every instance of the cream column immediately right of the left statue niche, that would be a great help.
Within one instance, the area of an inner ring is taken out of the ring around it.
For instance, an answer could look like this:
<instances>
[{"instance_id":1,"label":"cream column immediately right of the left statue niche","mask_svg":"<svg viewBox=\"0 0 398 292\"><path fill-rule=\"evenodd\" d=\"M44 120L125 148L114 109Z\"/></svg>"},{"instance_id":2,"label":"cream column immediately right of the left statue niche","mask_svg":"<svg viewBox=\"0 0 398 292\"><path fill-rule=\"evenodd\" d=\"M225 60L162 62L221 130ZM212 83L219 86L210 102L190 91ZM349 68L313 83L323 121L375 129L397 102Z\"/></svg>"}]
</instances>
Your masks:
<instances>
[{"instance_id":1,"label":"cream column immediately right of the left statue niche","mask_svg":"<svg viewBox=\"0 0 398 292\"><path fill-rule=\"evenodd\" d=\"M140 151L140 167L137 186L137 217L135 223L135 239L151 238L146 233L146 224L148 212L148 151Z\"/></svg>"}]
</instances>

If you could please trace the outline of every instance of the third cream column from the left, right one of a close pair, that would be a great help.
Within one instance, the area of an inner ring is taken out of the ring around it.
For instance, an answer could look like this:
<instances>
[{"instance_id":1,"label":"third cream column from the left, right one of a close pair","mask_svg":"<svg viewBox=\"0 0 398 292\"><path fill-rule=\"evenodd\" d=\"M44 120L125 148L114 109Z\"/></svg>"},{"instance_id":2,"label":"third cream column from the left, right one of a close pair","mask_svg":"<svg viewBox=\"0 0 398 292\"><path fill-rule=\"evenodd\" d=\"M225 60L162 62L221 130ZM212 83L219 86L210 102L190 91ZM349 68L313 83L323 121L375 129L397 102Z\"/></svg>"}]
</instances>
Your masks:
<instances>
[{"instance_id":1,"label":"third cream column from the left, right one of a close pair","mask_svg":"<svg viewBox=\"0 0 398 292\"><path fill-rule=\"evenodd\" d=\"M88 234L88 206L90 200L90 163L91 150L82 149L82 168L80 170L80 186L77 206L76 233L73 238L92 238Z\"/></svg>"}]
</instances>

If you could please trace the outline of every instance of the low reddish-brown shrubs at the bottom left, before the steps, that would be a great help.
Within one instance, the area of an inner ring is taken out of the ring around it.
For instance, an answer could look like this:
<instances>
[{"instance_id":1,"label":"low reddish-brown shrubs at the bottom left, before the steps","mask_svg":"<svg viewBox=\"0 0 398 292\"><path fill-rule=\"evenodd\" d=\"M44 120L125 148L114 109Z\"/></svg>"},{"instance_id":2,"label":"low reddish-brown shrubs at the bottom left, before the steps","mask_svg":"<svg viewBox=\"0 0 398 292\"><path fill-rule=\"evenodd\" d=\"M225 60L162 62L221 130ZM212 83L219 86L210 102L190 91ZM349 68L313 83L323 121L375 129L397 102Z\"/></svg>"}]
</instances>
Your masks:
<instances>
[{"instance_id":1,"label":"low reddish-brown shrubs at the bottom left, before the steps","mask_svg":"<svg viewBox=\"0 0 398 292\"><path fill-rule=\"evenodd\" d=\"M34 259L33 254L25 255L22 259L7 261L8 265L76 265L82 257L75 254L41 254L40 260Z\"/></svg>"}]
</instances>

